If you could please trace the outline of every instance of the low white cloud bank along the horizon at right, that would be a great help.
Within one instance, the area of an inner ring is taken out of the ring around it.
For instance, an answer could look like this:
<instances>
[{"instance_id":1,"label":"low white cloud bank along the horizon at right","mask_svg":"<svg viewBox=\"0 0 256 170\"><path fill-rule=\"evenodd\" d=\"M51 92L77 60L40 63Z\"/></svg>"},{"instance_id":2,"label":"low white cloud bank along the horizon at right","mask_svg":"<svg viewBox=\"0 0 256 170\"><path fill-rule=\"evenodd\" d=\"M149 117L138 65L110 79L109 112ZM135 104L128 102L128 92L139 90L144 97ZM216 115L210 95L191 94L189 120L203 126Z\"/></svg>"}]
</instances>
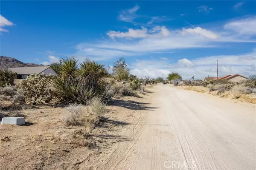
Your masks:
<instances>
[{"instance_id":1,"label":"low white cloud bank along the horizon at right","mask_svg":"<svg viewBox=\"0 0 256 170\"><path fill-rule=\"evenodd\" d=\"M168 63L161 60L137 60L132 63L131 73L139 78L164 77L173 71L178 72L184 79L195 76L196 79L216 76L216 60L218 59L219 76L227 74L242 74L249 76L256 73L256 51L240 55L220 55L201 57L193 60L180 59L177 63Z\"/></svg>"}]
</instances>

